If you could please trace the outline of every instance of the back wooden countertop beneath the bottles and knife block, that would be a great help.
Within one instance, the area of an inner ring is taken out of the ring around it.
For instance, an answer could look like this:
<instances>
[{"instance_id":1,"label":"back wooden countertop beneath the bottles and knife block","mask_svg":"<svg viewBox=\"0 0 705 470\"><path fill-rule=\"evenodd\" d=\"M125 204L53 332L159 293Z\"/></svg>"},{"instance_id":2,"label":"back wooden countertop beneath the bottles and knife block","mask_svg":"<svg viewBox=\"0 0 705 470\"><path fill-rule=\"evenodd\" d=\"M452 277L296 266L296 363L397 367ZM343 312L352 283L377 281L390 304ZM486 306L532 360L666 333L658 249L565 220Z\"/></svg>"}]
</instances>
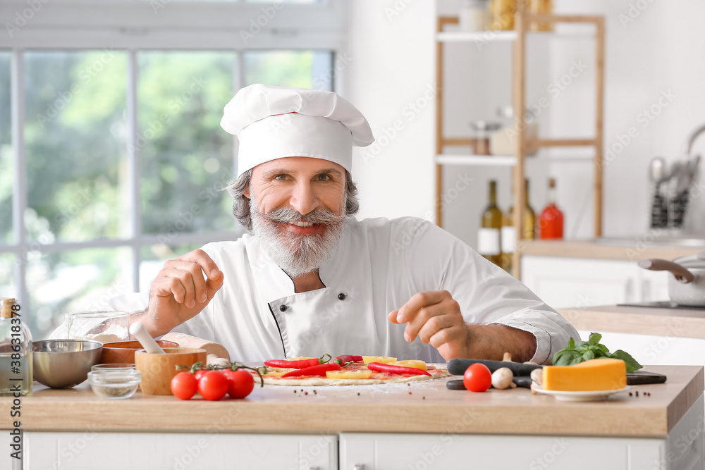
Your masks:
<instances>
[{"instance_id":1,"label":"back wooden countertop beneath the bottles and knife block","mask_svg":"<svg viewBox=\"0 0 705 470\"><path fill-rule=\"evenodd\" d=\"M649 245L649 240L635 237L632 245L608 245L594 240L522 240L523 256L559 256L564 258L618 259L638 261L646 258L674 259L679 256L696 254L705 249L705 240L701 247L668 247Z\"/></svg>"}]
</instances>

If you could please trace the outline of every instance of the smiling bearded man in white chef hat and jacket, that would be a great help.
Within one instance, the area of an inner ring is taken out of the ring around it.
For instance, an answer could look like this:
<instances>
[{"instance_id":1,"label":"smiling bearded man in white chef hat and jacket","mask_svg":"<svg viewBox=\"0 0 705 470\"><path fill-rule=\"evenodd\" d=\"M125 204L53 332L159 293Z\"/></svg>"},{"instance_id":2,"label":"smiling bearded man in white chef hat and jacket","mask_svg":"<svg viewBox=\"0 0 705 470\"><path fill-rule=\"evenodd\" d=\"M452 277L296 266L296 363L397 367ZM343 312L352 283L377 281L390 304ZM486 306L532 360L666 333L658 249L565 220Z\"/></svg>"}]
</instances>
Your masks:
<instances>
[{"instance_id":1,"label":"smiling bearded man in white chef hat and jacket","mask_svg":"<svg viewBox=\"0 0 705 470\"><path fill-rule=\"evenodd\" d=\"M355 219L353 147L374 138L338 94L250 85L225 106L221 126L240 141L228 190L252 235L164 264L132 315L154 337L188 333L238 361L510 352L537 363L578 338L522 283L436 225ZM389 178L386 197L403 197Z\"/></svg>"}]
</instances>

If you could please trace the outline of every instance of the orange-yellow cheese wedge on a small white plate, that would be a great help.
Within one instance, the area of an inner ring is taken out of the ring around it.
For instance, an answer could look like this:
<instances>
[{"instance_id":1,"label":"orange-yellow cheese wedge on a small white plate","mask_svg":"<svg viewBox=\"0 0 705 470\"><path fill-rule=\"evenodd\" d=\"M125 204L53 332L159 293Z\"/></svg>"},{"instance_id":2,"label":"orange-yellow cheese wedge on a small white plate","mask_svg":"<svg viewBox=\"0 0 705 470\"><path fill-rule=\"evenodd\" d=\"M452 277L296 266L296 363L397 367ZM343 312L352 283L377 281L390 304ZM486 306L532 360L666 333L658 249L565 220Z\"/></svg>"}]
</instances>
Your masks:
<instances>
[{"instance_id":1,"label":"orange-yellow cheese wedge on a small white plate","mask_svg":"<svg viewBox=\"0 0 705 470\"><path fill-rule=\"evenodd\" d=\"M627 386L627 366L621 359L590 359L572 366L544 366L544 390L591 392Z\"/></svg>"}]
</instances>

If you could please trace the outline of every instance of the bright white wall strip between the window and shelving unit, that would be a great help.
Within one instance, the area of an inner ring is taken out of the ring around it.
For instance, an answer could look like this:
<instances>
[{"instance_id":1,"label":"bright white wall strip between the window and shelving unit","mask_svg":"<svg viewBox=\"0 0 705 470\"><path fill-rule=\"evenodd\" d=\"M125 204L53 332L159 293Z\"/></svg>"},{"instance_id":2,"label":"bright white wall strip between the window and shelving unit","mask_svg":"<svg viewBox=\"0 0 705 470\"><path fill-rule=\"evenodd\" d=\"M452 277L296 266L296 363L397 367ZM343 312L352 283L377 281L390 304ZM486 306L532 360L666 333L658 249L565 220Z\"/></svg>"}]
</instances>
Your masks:
<instances>
[{"instance_id":1,"label":"bright white wall strip between the window and shelving unit","mask_svg":"<svg viewBox=\"0 0 705 470\"><path fill-rule=\"evenodd\" d=\"M434 208L434 3L355 0L349 8L352 61L344 72L344 94L367 117L377 140L358 151L353 163L360 188L360 218L430 218ZM412 109L414 103L416 109Z\"/></svg>"}]
</instances>

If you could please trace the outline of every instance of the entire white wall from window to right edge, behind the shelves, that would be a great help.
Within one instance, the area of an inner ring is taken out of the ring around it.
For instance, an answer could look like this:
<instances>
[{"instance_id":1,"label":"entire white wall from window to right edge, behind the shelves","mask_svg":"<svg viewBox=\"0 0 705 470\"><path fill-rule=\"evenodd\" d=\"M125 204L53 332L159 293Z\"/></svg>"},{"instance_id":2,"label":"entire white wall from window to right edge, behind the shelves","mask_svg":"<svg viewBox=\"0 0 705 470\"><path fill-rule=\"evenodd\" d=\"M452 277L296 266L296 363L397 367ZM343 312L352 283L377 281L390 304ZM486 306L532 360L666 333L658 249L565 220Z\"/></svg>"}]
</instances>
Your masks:
<instances>
[{"instance_id":1,"label":"entire white wall from window to right edge, behind the shelves","mask_svg":"<svg viewBox=\"0 0 705 470\"><path fill-rule=\"evenodd\" d=\"M623 27L620 14L628 16L630 4L636 3L648 7ZM345 70L345 96L365 113L382 143L386 142L385 128L393 127L395 120L403 124L403 130L374 158L358 154L355 160L362 217L431 216L434 110L427 106L410 122L405 111L410 101L423 101L424 89L434 84L436 14L455 14L459 4L459 0L439 0L436 12L429 1L350 2L350 52L354 60ZM395 10L402 5L403 10ZM705 32L701 28L705 4L698 0L652 0L650 4L648 0L556 0L554 10L606 17L605 143L614 144L617 135L631 125L637 126L639 135L606 168L603 230L608 236L644 233L649 216L649 161L653 156L675 159L687 132L705 123ZM390 12L398 14L388 17ZM582 58L592 66L591 44L587 39L537 40L529 44L529 102L546 95L546 86L560 78L572 60ZM470 120L491 119L496 106L510 103L510 57L509 44L491 44L482 51L455 45L448 48L448 135L468 135ZM593 86L590 69L553 99L541 116L541 135L590 136ZM676 95L673 103L643 128L637 116L668 89ZM705 136L697 141L696 149L705 154ZM368 151L367 156L371 155ZM591 237L589 164L554 163L547 167L531 163L527 172L532 179L529 199L534 209L538 211L546 202L546 178L556 175L567 235ZM446 206L446 228L474 245L479 215L486 204L486 181L499 180L499 204L506 209L510 171L454 166L446 168L446 183L453 185L459 174L472 178L473 183ZM444 187L446 192L448 185ZM699 185L705 187L703 178ZM687 221L688 227L699 233L705 233L704 199L701 194Z\"/></svg>"}]
</instances>

